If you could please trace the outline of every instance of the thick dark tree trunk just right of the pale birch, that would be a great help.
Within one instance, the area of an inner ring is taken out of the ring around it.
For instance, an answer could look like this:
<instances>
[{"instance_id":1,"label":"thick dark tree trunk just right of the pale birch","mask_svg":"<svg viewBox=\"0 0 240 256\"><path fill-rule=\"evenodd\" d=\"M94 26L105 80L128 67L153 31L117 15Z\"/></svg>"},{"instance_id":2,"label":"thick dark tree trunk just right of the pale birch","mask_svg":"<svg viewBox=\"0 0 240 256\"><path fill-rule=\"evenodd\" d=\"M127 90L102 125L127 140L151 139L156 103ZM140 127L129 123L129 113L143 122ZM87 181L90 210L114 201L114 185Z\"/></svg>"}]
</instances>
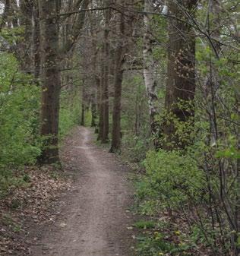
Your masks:
<instances>
[{"instance_id":1,"label":"thick dark tree trunk just right of the pale birch","mask_svg":"<svg viewBox=\"0 0 240 256\"><path fill-rule=\"evenodd\" d=\"M182 7L173 1L169 2L170 14L178 19L185 19L182 8L194 13L197 0L185 0ZM165 108L167 116L174 115L180 122L187 122L194 116L191 103L195 93L195 35L191 25L169 18L169 48L166 83ZM179 106L185 105L185 106ZM164 147L171 150L185 147L179 137L175 136L174 122L166 121L163 133L166 136ZM193 125L193 124L192 124Z\"/></svg>"}]
</instances>

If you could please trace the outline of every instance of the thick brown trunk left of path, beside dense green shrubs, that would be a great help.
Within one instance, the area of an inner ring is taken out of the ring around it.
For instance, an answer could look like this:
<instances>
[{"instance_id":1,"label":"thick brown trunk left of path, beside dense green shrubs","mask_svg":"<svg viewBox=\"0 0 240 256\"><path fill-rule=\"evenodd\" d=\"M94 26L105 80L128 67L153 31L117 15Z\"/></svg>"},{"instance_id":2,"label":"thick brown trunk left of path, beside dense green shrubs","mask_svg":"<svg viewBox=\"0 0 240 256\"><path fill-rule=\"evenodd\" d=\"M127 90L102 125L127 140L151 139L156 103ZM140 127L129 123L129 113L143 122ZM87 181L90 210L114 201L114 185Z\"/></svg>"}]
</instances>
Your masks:
<instances>
[{"instance_id":1,"label":"thick brown trunk left of path, beside dense green shrubs","mask_svg":"<svg viewBox=\"0 0 240 256\"><path fill-rule=\"evenodd\" d=\"M40 163L58 163L60 69L58 59L58 0L39 0L43 90L40 134L46 137Z\"/></svg>"}]
</instances>

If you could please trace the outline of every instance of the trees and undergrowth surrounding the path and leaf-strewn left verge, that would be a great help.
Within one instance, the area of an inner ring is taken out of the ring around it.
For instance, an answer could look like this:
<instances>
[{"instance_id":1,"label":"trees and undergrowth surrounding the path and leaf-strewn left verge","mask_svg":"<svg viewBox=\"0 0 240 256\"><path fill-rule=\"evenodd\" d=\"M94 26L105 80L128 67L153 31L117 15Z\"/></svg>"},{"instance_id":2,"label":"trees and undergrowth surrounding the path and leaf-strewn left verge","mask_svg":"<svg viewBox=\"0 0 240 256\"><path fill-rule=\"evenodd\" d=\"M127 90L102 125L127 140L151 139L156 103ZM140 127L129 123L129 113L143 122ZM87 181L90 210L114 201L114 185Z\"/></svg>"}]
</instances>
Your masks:
<instances>
[{"instance_id":1,"label":"trees and undergrowth surrounding the path and leaf-strewn left verge","mask_svg":"<svg viewBox=\"0 0 240 256\"><path fill-rule=\"evenodd\" d=\"M29 182L24 166L59 166L62 139L91 126L136 170L137 254L238 255L239 2L1 8L1 197Z\"/></svg>"}]
</instances>

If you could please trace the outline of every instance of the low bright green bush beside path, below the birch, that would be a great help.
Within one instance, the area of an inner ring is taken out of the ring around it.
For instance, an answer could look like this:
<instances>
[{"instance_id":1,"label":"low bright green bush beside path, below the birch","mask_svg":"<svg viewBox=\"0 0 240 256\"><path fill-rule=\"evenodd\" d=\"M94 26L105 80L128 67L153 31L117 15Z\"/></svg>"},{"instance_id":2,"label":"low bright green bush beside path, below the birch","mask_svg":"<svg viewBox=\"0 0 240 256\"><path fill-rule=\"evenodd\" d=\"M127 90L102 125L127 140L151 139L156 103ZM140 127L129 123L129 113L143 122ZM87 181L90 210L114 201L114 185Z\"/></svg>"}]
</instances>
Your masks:
<instances>
[{"instance_id":1,"label":"low bright green bush beside path, below the birch","mask_svg":"<svg viewBox=\"0 0 240 256\"><path fill-rule=\"evenodd\" d=\"M181 209L189 198L199 201L203 176L196 162L179 151L150 151L145 161L146 176L137 186L138 197L150 207ZM142 207L144 207L144 204ZM152 209L153 210L153 209Z\"/></svg>"}]
</instances>

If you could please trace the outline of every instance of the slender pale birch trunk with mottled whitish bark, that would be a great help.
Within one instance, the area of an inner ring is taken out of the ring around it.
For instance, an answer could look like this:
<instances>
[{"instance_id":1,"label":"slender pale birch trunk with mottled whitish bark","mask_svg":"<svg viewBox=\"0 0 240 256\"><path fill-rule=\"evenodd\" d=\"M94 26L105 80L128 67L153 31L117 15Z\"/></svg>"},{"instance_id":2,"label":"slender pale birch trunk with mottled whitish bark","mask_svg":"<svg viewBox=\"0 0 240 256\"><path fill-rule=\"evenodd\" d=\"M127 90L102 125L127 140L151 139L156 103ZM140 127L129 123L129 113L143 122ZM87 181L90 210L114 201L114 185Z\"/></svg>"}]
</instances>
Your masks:
<instances>
[{"instance_id":1,"label":"slender pale birch trunk with mottled whitish bark","mask_svg":"<svg viewBox=\"0 0 240 256\"><path fill-rule=\"evenodd\" d=\"M146 13L153 12L153 6L150 5L149 0L144 1L144 11ZM154 77L154 61L153 61L153 46L152 46L152 15L144 15L144 83L147 91L148 108L150 114L150 130L153 135L153 144L157 148L159 122L156 120L157 109L157 95L156 95L156 80Z\"/></svg>"}]
</instances>

